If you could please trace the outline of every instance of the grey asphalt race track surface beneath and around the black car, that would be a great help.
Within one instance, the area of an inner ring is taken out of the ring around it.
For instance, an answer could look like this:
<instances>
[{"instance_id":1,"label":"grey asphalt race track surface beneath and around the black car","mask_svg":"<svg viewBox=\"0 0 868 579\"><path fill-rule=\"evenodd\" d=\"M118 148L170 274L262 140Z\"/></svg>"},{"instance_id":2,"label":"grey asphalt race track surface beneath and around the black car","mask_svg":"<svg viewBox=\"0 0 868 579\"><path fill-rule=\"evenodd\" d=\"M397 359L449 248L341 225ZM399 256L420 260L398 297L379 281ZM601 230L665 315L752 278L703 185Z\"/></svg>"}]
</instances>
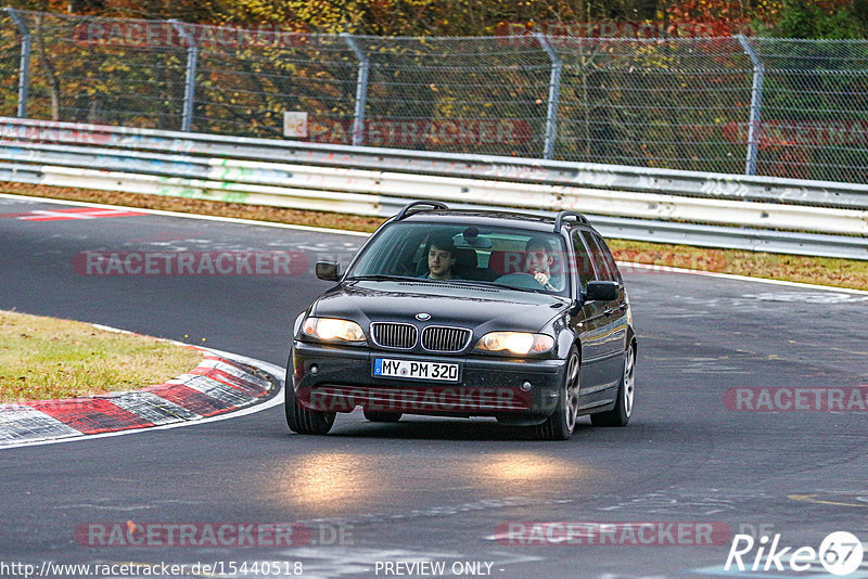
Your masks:
<instances>
[{"instance_id":1,"label":"grey asphalt race track surface beneath and around the black car","mask_svg":"<svg viewBox=\"0 0 868 579\"><path fill-rule=\"evenodd\" d=\"M60 208L68 206L0 198L0 214ZM346 261L360 241L154 215L0 217L0 309L284 365L293 319L328 287L312 271L81 275L74 256L290 249L312 263L327 255ZM306 437L289 434L276 407L184 428L2 450L0 564L221 562L228 570L247 562L237 577L273 577L286 568L252 572L252 563L301 562L301 576L310 578L394 577L378 562L441 561L446 577L472 576L457 562L483 562L493 565L481 565L482 574L499 578L614 579L723 574L730 541L516 545L498 541L497 531L509 522L682 522L780 533L791 546L816 549L841 530L868 541L866 412L751 412L724 403L729 388L868 384L868 296L675 273L625 278L639 338L637 410L626 428L583 420L572 440L538 442L488 421L383 425L356 411L340 415L330 436ZM100 546L76 537L94 523L285 522L312 528L310 543ZM749 565L755 554L745 556ZM13 571L0 566L2 577L23 576ZM733 571L825 576L819 564L802 572ZM868 557L850 577L868 577Z\"/></svg>"}]
</instances>

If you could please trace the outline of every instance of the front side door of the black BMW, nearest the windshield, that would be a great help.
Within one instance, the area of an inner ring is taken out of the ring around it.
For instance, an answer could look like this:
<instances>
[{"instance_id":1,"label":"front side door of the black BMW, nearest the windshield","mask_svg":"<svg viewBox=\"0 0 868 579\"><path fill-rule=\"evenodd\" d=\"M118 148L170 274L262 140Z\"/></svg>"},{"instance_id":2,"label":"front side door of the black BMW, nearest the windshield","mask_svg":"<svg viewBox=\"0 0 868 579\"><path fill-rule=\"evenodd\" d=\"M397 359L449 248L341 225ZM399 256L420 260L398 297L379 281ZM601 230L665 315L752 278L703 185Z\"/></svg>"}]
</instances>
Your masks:
<instances>
[{"instance_id":1,"label":"front side door of the black BMW, nearest the windshield","mask_svg":"<svg viewBox=\"0 0 868 579\"><path fill-rule=\"evenodd\" d=\"M588 249L587 240L580 230L572 232L574 268L576 272L577 292L584 292L587 283L598 279L593 260ZM601 391L608 388L605 364L610 346L607 344L605 303L598 300L584 301L582 311L571 319L573 331L579 336L582 344L582 373L579 389L579 407L592 408L600 403Z\"/></svg>"}]
</instances>

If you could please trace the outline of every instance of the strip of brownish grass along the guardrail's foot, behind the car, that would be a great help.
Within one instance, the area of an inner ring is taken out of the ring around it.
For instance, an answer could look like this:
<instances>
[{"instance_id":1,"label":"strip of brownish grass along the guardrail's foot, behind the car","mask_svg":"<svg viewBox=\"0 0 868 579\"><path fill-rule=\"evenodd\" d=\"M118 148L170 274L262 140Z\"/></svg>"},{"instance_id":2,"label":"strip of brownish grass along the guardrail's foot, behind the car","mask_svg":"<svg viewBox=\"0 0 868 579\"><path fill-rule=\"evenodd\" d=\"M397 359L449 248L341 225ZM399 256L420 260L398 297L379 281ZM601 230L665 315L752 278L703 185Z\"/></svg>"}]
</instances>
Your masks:
<instances>
[{"instance_id":1,"label":"strip of brownish grass along the guardrail's foot, behind the car","mask_svg":"<svg viewBox=\"0 0 868 579\"><path fill-rule=\"evenodd\" d=\"M383 222L376 217L27 183L0 183L0 192L352 231L371 232ZM868 290L868 261L856 259L710 249L626 240L610 240L609 245L621 261Z\"/></svg>"}]
</instances>

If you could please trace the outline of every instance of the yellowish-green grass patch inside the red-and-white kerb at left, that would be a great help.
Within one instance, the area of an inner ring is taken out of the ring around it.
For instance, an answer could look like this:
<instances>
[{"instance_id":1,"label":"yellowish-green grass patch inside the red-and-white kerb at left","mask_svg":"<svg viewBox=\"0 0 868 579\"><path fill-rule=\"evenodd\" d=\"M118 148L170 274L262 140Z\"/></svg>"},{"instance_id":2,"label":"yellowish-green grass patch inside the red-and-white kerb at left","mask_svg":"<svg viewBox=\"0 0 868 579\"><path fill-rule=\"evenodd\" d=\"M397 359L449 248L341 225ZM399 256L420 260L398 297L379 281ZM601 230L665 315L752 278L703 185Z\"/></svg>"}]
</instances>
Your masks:
<instances>
[{"instance_id":1,"label":"yellowish-green grass patch inside the red-and-white kerb at left","mask_svg":"<svg viewBox=\"0 0 868 579\"><path fill-rule=\"evenodd\" d=\"M201 360L197 350L148 336L0 311L0 402L143 388Z\"/></svg>"}]
</instances>

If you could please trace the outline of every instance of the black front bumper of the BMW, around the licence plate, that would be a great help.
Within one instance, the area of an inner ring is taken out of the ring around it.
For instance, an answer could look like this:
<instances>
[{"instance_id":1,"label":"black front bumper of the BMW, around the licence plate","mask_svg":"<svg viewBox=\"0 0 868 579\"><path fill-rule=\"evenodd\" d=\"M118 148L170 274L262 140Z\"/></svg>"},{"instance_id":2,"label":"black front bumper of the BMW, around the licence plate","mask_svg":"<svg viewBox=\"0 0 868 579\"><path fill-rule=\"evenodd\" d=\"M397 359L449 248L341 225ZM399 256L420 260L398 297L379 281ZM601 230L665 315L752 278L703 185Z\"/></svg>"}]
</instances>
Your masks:
<instances>
[{"instance_id":1,"label":"black front bumper of the BMW, around the licence plate","mask_svg":"<svg viewBox=\"0 0 868 579\"><path fill-rule=\"evenodd\" d=\"M460 364L459 382L403 379L373 375L373 359ZM295 340L288 386L305 408L443 416L503 416L541 421L554 412L563 384L563 360L449 357L334 347ZM531 385L529 390L522 387Z\"/></svg>"}]
</instances>

